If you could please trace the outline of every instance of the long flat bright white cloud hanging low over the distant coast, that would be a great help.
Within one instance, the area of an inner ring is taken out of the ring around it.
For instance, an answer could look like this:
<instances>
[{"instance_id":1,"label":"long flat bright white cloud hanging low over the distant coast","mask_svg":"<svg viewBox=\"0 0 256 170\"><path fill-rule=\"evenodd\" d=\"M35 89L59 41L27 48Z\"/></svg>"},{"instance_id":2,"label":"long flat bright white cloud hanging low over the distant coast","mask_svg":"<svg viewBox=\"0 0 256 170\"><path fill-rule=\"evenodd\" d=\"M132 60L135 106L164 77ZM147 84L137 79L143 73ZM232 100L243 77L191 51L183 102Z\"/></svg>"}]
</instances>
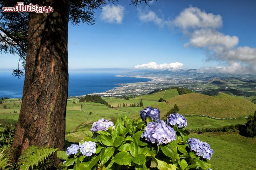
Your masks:
<instances>
[{"instance_id":1,"label":"long flat bright white cloud hanging low over the distant coast","mask_svg":"<svg viewBox=\"0 0 256 170\"><path fill-rule=\"evenodd\" d=\"M135 68L137 69L159 69L159 70L172 70L172 69L178 69L180 67L182 67L183 64L182 63L164 63L164 64L157 64L155 62L150 62L150 63L146 63L146 64L141 64L138 66L135 66Z\"/></svg>"}]
</instances>

